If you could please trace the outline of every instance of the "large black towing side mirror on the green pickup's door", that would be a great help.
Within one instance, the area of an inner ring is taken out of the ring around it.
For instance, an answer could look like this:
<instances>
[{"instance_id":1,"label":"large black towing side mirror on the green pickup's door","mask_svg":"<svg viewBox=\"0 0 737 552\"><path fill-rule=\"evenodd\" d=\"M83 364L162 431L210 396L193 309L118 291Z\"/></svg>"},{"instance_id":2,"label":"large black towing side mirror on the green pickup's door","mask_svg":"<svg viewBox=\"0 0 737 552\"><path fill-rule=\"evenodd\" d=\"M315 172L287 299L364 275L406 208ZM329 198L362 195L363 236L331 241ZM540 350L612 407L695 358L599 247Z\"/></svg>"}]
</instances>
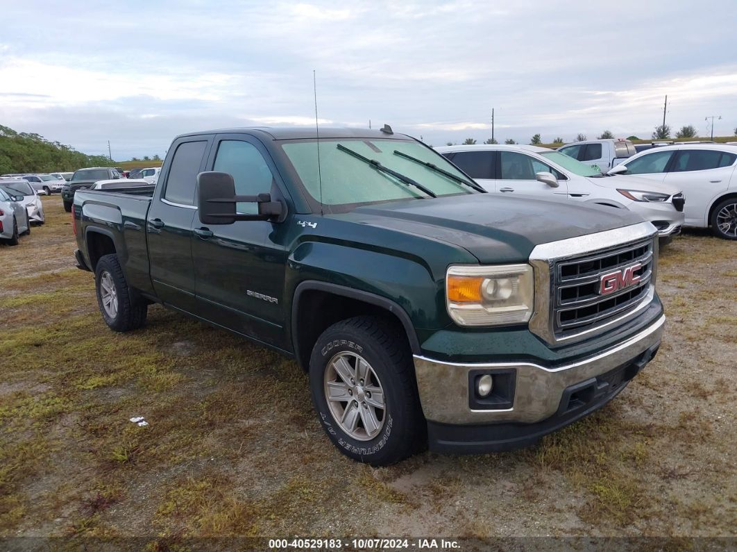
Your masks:
<instances>
[{"instance_id":1,"label":"large black towing side mirror on the green pickup's door","mask_svg":"<svg viewBox=\"0 0 737 552\"><path fill-rule=\"evenodd\" d=\"M200 223L233 224L236 220L280 220L284 206L270 194L235 195L235 181L227 172L200 172L197 175L197 208ZM259 214L236 212L236 203L258 203Z\"/></svg>"}]
</instances>

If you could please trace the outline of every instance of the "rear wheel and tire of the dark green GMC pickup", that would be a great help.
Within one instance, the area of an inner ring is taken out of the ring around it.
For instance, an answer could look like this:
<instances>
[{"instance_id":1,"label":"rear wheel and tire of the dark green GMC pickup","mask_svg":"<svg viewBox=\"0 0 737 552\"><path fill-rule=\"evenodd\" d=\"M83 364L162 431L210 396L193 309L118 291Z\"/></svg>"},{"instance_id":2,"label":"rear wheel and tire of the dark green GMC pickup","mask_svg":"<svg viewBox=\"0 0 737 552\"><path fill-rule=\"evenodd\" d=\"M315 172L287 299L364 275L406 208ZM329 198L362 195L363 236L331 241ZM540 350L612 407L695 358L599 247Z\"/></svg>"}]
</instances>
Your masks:
<instances>
[{"instance_id":1,"label":"rear wheel and tire of the dark green GMC pickup","mask_svg":"<svg viewBox=\"0 0 737 552\"><path fill-rule=\"evenodd\" d=\"M146 322L148 305L128 287L117 255L100 257L95 268L95 295L102 319L115 332L130 332Z\"/></svg>"}]
</instances>

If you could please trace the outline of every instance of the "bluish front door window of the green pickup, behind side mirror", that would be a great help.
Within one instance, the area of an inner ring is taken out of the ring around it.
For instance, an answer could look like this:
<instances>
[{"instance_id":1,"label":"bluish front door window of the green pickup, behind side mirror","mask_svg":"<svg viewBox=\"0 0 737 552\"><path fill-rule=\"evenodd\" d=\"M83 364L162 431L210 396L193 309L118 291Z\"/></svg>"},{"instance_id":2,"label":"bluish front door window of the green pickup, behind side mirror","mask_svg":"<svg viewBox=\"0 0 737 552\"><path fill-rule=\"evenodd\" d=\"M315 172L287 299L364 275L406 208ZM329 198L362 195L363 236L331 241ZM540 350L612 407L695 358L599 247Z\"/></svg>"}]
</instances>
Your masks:
<instances>
[{"instance_id":1,"label":"bluish front door window of the green pickup, behind side mirror","mask_svg":"<svg viewBox=\"0 0 737 552\"><path fill-rule=\"evenodd\" d=\"M212 170L233 175L236 195L259 195L271 191L271 170L259 150L248 142L220 142ZM237 203L236 210L245 214L259 212L257 203Z\"/></svg>"}]
</instances>

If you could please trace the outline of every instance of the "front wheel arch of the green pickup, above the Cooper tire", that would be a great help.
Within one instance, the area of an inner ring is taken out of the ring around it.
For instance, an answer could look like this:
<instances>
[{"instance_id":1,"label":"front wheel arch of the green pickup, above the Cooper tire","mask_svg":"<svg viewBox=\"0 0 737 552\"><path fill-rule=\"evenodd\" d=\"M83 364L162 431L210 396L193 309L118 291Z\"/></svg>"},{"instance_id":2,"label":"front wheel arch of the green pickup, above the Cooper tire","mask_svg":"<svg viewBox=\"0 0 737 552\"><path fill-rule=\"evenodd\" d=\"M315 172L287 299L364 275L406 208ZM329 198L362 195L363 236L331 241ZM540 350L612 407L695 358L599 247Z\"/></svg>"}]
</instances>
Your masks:
<instances>
[{"instance_id":1,"label":"front wheel arch of the green pickup, above the Cooper tire","mask_svg":"<svg viewBox=\"0 0 737 552\"><path fill-rule=\"evenodd\" d=\"M315 307L320 307L319 310ZM292 302L291 338L294 356L307 371L312 346L332 324L360 315L387 318L404 330L413 354L420 353L419 340L407 312L391 299L339 284L306 281L296 287Z\"/></svg>"}]
</instances>

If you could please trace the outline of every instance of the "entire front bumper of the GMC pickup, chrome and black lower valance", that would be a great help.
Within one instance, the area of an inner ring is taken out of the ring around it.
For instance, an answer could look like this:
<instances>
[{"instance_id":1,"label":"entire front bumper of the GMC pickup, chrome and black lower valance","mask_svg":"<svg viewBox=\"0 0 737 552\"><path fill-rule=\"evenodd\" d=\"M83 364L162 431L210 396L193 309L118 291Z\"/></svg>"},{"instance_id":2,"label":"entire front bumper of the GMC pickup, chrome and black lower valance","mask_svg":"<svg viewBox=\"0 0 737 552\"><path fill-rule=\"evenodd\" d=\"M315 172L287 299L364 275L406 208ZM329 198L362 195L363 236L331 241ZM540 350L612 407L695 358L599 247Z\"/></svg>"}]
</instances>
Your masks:
<instances>
[{"instance_id":1,"label":"entire front bumper of the GMC pickup, chrome and black lower valance","mask_svg":"<svg viewBox=\"0 0 737 552\"><path fill-rule=\"evenodd\" d=\"M622 343L559 366L450 363L416 355L417 388L430 448L477 453L525 446L585 416L618 394L624 388L621 383L626 385L652 359L663 338L665 320L661 315ZM474 377L486 373L498 374L504 382L506 396L496 404L480 404L475 398ZM617 378L618 385L607 383ZM576 400L587 400L571 411L567 407L574 394Z\"/></svg>"}]
</instances>

